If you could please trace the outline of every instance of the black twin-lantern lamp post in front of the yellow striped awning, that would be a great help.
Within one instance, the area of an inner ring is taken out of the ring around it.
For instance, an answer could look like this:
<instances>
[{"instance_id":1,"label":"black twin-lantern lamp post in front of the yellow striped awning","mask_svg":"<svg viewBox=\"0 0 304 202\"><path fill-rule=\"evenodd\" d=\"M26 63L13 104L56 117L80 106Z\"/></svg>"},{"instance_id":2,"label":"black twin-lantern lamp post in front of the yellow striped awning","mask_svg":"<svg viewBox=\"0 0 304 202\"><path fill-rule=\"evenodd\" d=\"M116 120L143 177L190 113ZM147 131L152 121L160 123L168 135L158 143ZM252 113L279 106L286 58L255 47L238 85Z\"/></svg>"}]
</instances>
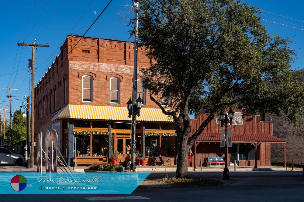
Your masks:
<instances>
[{"instance_id":1,"label":"black twin-lantern lamp post in front of the yellow striped awning","mask_svg":"<svg viewBox=\"0 0 304 202\"><path fill-rule=\"evenodd\" d=\"M131 131L132 131L132 139L131 139L131 170L135 170L135 151L136 151L136 115L140 116L140 109L143 105L143 100L140 98L140 96L135 100L135 104L133 104L133 101L131 98L127 102L127 108L129 112L129 118L131 118L132 115L132 123L131 123Z\"/></svg>"}]
</instances>

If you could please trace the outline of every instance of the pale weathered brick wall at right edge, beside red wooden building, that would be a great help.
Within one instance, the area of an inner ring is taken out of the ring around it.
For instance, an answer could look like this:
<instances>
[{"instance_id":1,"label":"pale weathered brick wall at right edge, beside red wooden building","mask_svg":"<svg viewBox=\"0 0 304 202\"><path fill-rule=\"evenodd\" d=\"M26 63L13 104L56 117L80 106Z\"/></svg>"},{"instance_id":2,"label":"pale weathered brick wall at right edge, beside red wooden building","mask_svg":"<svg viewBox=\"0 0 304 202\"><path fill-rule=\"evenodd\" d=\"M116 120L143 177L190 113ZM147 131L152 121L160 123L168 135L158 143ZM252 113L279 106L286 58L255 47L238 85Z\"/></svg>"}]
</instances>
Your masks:
<instances>
[{"instance_id":1,"label":"pale weathered brick wall at right edge, beside red wooden building","mask_svg":"<svg viewBox=\"0 0 304 202\"><path fill-rule=\"evenodd\" d=\"M273 118L273 135L287 141L286 163L304 163L304 124L297 128L280 118ZM271 144L271 162L283 162L283 146Z\"/></svg>"}]
</instances>

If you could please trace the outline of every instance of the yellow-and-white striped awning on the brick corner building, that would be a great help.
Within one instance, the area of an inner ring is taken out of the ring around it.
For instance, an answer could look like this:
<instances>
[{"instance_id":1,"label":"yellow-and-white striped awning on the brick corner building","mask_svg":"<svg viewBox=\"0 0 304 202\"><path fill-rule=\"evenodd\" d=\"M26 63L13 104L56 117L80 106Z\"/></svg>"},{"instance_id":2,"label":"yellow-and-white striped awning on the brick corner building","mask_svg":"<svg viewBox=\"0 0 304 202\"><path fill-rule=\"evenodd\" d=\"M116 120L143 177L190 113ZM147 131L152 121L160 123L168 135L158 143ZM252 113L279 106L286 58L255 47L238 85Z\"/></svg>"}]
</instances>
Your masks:
<instances>
[{"instance_id":1,"label":"yellow-and-white striped awning on the brick corner building","mask_svg":"<svg viewBox=\"0 0 304 202\"><path fill-rule=\"evenodd\" d=\"M65 118L131 121L131 118L128 117L128 109L126 107L80 104L69 104L65 106L57 112L52 118L52 121ZM142 108L140 110L140 117L136 117L136 120L173 122L173 118L163 114L159 108Z\"/></svg>"}]
</instances>

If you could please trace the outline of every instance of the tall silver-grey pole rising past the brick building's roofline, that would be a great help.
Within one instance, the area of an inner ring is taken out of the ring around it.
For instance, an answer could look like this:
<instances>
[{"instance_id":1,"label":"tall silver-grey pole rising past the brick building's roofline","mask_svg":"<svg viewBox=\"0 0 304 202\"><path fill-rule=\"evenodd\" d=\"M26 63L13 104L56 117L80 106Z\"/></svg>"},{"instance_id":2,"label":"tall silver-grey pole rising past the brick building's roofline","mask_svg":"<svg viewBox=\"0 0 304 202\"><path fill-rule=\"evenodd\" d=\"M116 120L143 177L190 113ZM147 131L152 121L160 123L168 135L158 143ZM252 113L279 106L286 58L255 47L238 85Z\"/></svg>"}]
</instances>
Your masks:
<instances>
[{"instance_id":1,"label":"tall silver-grey pole rising past the brick building's roofline","mask_svg":"<svg viewBox=\"0 0 304 202\"><path fill-rule=\"evenodd\" d=\"M133 7L135 7L135 28L134 28L134 69L133 69L133 95L132 95L132 138L131 138L131 170L135 171L135 152L136 152L136 103L137 99L137 30L138 30L138 10L139 5L137 0L133 0Z\"/></svg>"}]
</instances>

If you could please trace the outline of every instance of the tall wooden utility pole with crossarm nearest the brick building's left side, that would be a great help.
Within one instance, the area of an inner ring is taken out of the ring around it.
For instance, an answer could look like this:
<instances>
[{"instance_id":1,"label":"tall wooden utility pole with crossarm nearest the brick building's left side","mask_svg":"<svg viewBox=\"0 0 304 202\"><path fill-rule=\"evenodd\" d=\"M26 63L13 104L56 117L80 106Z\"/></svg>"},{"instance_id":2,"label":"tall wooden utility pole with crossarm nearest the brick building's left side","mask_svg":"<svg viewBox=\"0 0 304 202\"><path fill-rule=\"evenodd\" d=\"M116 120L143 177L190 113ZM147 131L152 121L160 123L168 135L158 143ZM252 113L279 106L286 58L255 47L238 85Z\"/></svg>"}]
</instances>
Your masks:
<instances>
[{"instance_id":1,"label":"tall wooden utility pole with crossarm nearest the brick building's left side","mask_svg":"<svg viewBox=\"0 0 304 202\"><path fill-rule=\"evenodd\" d=\"M36 44L36 39L34 39L34 41L31 44L25 44L25 43L17 43L18 46L29 46L32 47L32 111L31 111L31 167L30 168L34 168L34 111L35 111L35 47L36 47L36 51L38 52L37 47L50 47L49 44L45 45L45 44Z\"/></svg>"}]
</instances>

